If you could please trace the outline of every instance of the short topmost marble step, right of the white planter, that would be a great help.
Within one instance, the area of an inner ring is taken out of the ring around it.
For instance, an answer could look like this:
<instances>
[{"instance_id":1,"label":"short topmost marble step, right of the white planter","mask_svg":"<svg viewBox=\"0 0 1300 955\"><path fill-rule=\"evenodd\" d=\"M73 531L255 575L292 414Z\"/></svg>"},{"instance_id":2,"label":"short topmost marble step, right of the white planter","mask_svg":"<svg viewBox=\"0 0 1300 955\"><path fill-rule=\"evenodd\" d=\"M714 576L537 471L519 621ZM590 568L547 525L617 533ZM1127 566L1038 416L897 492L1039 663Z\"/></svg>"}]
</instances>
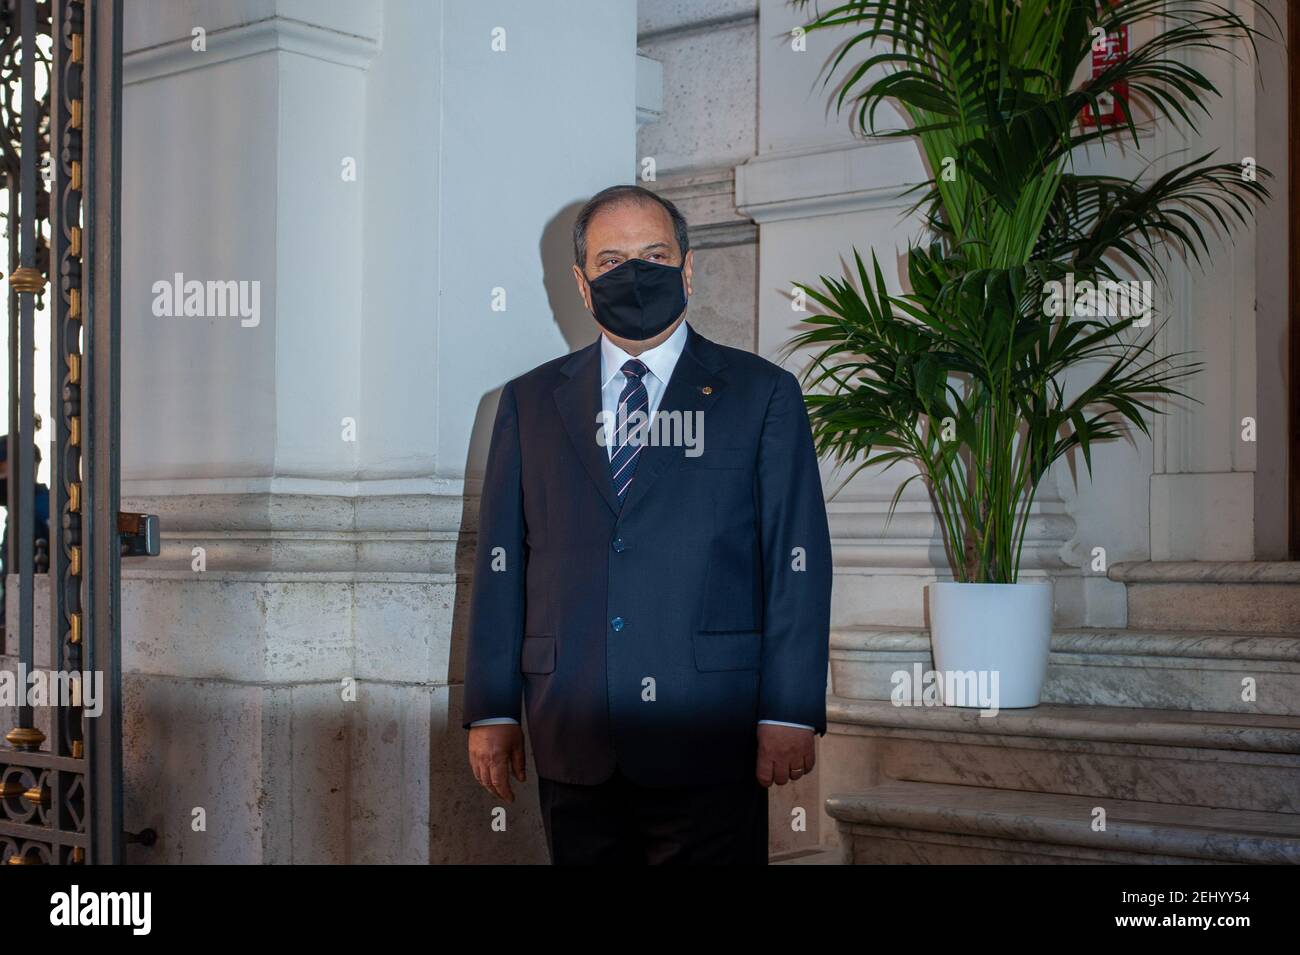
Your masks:
<instances>
[{"instance_id":1,"label":"short topmost marble step, right of the white planter","mask_svg":"<svg viewBox=\"0 0 1300 955\"><path fill-rule=\"evenodd\" d=\"M1134 561L1106 576L1124 585L1130 628L1300 635L1300 561Z\"/></svg>"}]
</instances>

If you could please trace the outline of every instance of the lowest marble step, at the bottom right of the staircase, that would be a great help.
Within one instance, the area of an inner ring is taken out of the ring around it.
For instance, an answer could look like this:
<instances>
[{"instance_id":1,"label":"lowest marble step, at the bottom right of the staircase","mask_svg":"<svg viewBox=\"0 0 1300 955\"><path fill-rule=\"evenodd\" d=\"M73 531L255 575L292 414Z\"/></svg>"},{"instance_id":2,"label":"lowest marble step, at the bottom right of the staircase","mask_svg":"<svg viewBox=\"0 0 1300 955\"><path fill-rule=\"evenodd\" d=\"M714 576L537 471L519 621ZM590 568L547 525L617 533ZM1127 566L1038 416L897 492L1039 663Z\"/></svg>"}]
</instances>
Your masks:
<instances>
[{"instance_id":1,"label":"lowest marble step, at the bottom right of the staircase","mask_svg":"<svg viewBox=\"0 0 1300 955\"><path fill-rule=\"evenodd\" d=\"M902 781L832 793L826 807L853 864L1300 864L1288 813Z\"/></svg>"}]
</instances>

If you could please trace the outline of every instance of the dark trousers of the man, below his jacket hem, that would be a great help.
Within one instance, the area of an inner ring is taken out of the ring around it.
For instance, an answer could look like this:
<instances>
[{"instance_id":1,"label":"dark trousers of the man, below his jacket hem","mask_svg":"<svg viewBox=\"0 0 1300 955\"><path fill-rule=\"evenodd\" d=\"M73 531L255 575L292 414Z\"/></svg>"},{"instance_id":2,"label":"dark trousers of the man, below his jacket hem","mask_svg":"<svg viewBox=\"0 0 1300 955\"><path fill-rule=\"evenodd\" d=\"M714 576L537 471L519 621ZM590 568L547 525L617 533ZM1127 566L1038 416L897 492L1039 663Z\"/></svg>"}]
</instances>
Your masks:
<instances>
[{"instance_id":1,"label":"dark trousers of the man, below his jacket hem","mask_svg":"<svg viewBox=\"0 0 1300 955\"><path fill-rule=\"evenodd\" d=\"M552 865L766 865L767 790L757 778L722 786L638 786L615 769L578 786L538 777Z\"/></svg>"}]
</instances>

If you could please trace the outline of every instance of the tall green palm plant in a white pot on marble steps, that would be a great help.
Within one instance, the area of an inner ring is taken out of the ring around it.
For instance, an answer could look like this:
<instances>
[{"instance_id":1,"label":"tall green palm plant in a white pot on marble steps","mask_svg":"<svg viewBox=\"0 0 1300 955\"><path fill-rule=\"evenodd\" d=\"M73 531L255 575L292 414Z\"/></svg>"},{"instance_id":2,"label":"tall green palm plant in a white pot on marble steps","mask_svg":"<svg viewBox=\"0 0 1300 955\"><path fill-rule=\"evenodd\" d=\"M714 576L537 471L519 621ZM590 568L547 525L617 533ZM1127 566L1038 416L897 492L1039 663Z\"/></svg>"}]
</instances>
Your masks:
<instances>
[{"instance_id":1,"label":"tall green palm plant in a white pot on marble steps","mask_svg":"<svg viewBox=\"0 0 1300 955\"><path fill-rule=\"evenodd\" d=\"M854 465L850 478L914 468L889 515L924 482L952 572L930 591L936 668L991 670L998 706L1035 706L1050 583L1019 572L1040 482L1067 456L1091 476L1095 444L1149 435L1199 364L1156 352L1149 292L1097 291L1162 281L1164 256L1199 259L1216 227L1247 222L1268 195L1266 170L1212 155L1145 182L1075 160L1118 138L1140 149L1144 123L1195 127L1218 91L1180 55L1253 49L1260 31L1210 0L858 0L805 26L840 27L854 32L827 79L862 58L837 105L855 105L863 134L914 138L933 175L919 187L928 235L907 251L907 291L890 292L876 256L868 268L857 249L855 277L796 283L818 307L788 343L812 352L814 439ZM1149 39L1080 79L1095 49L1130 27ZM885 101L905 126L876 126Z\"/></svg>"}]
</instances>

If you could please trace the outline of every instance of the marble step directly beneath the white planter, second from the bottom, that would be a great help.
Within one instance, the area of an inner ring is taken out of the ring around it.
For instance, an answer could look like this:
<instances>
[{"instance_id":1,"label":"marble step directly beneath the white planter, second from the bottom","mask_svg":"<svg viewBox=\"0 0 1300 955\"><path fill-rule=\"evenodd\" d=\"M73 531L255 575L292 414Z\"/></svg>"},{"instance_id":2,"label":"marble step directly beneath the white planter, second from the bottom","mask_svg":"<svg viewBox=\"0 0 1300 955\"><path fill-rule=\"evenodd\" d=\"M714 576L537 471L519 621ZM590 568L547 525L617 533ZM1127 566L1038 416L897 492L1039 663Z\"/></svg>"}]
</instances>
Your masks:
<instances>
[{"instance_id":1,"label":"marble step directly beneath the white planter, second from the bottom","mask_svg":"<svg viewBox=\"0 0 1300 955\"><path fill-rule=\"evenodd\" d=\"M885 780L1300 813L1300 717L827 699L822 791Z\"/></svg>"}]
</instances>

